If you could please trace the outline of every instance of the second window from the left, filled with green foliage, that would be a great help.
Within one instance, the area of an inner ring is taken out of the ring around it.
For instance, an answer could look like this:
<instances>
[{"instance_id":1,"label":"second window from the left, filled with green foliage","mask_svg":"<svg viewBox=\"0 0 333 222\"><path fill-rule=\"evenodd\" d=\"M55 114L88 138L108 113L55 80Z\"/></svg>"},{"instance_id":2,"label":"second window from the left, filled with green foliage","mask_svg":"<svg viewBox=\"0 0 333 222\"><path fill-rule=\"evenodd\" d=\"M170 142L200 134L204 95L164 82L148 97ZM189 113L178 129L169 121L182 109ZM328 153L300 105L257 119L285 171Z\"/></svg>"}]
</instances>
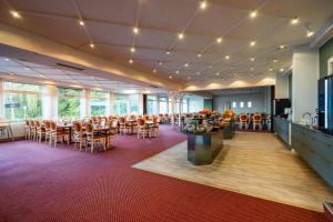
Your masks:
<instances>
[{"instance_id":1,"label":"second window from the left, filled with green foliage","mask_svg":"<svg viewBox=\"0 0 333 222\"><path fill-rule=\"evenodd\" d=\"M82 90L58 88L58 117L80 119Z\"/></svg>"}]
</instances>

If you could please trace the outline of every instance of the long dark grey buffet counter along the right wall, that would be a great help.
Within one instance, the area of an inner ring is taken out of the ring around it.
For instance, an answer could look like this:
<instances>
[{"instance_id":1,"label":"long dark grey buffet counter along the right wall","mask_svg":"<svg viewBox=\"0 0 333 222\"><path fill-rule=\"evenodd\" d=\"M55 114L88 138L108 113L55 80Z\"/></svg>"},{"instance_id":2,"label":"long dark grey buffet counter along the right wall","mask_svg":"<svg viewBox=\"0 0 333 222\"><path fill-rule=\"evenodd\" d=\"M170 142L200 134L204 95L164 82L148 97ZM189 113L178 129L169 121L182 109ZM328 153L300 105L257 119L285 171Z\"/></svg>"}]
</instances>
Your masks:
<instances>
[{"instance_id":1,"label":"long dark grey buffet counter along the right wall","mask_svg":"<svg viewBox=\"0 0 333 222\"><path fill-rule=\"evenodd\" d=\"M333 186L333 135L280 118L274 130L296 153ZM287 127L286 127L287 125Z\"/></svg>"}]
</instances>

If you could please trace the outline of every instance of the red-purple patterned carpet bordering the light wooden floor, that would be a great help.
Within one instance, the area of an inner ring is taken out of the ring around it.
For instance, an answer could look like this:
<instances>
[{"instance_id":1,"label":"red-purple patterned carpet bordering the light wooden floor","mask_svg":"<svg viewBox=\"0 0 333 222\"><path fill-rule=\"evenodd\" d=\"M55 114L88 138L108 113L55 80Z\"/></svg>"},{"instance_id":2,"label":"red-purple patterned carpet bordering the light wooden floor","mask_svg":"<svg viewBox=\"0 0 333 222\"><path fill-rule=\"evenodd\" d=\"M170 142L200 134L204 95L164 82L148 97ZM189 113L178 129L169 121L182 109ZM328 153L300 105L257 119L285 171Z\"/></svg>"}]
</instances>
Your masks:
<instances>
[{"instance_id":1,"label":"red-purple patterned carpet bordering the light wooden floor","mask_svg":"<svg viewBox=\"0 0 333 222\"><path fill-rule=\"evenodd\" d=\"M0 144L0 221L324 221L324 214L132 169L185 138L117 138L91 155L18 141Z\"/></svg>"}]
</instances>

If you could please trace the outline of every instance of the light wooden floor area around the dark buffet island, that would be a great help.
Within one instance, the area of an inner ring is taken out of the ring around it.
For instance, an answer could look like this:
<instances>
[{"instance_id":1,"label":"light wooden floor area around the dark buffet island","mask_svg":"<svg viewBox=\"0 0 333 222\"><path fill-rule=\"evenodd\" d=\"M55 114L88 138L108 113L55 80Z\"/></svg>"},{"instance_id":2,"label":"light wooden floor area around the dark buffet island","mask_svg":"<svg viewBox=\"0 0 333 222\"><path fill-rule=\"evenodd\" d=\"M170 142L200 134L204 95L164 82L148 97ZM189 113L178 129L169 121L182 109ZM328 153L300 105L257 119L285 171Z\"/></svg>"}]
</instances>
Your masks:
<instances>
[{"instance_id":1,"label":"light wooden floor area around the dark buffet island","mask_svg":"<svg viewBox=\"0 0 333 222\"><path fill-rule=\"evenodd\" d=\"M315 211L333 201L332 188L271 133L236 132L211 165L192 165L182 142L133 168Z\"/></svg>"}]
</instances>

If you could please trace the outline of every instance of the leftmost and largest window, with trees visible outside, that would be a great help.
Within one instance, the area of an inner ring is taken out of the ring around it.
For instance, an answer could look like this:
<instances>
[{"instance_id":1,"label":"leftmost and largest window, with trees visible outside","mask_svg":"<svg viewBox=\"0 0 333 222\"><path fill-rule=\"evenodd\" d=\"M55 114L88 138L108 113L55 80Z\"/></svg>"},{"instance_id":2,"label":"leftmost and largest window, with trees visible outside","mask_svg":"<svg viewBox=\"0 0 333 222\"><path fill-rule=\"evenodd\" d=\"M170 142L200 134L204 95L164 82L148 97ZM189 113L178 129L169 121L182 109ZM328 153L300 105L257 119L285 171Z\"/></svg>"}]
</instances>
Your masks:
<instances>
[{"instance_id":1,"label":"leftmost and largest window, with trees visible outside","mask_svg":"<svg viewBox=\"0 0 333 222\"><path fill-rule=\"evenodd\" d=\"M4 82L4 119L21 121L42 117L41 85Z\"/></svg>"}]
</instances>

